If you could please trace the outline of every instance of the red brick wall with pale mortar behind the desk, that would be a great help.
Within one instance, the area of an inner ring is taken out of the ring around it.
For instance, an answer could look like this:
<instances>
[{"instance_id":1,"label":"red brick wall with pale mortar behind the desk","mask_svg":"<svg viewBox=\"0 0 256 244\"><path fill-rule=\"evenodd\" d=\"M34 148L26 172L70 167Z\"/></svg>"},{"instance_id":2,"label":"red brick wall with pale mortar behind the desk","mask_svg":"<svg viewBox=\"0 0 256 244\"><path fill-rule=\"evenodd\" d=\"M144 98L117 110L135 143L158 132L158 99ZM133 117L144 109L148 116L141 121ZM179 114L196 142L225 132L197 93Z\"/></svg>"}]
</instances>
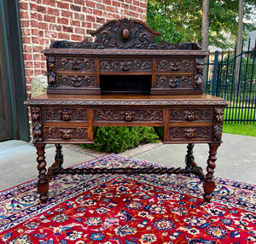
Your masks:
<instances>
[{"instance_id":1,"label":"red brick wall with pale mortar behind the desk","mask_svg":"<svg viewBox=\"0 0 256 244\"><path fill-rule=\"evenodd\" d=\"M80 42L112 19L146 19L147 0L20 0L20 24L30 96L32 78L45 74L41 51L53 40Z\"/></svg>"}]
</instances>

